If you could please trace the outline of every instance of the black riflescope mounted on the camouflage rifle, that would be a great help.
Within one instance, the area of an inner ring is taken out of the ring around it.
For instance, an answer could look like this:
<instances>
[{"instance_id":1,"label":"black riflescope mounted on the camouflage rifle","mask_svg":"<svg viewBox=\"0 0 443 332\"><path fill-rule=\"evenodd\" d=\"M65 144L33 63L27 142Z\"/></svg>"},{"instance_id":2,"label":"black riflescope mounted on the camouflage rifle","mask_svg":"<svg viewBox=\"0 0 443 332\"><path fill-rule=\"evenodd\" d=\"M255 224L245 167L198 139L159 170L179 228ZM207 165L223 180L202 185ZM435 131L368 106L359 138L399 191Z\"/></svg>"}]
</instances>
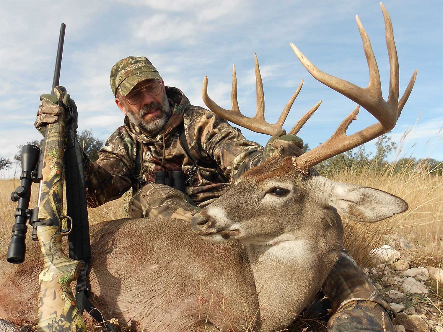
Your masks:
<instances>
[{"instance_id":1,"label":"black riflescope mounted on the camouflage rifle","mask_svg":"<svg viewBox=\"0 0 443 332\"><path fill-rule=\"evenodd\" d=\"M9 263L23 263L26 253L26 231L27 221L31 217L32 210L29 209L31 199L31 185L37 178L36 167L39 162L40 149L32 144L23 145L21 153L22 174L20 185L16 191L11 193L11 199L18 202L12 226L12 237L8 247L6 260Z\"/></svg>"}]
</instances>

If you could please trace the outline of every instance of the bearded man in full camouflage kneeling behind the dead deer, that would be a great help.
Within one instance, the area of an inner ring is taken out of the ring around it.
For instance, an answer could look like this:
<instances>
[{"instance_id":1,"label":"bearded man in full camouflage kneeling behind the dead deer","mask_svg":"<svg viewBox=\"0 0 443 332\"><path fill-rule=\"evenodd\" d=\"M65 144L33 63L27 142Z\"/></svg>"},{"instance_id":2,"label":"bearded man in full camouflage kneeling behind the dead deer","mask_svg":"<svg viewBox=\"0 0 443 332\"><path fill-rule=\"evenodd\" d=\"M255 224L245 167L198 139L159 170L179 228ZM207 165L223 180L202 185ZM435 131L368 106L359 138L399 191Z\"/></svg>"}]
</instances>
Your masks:
<instances>
[{"instance_id":1,"label":"bearded man in full camouflage kneeling behind the dead deer","mask_svg":"<svg viewBox=\"0 0 443 332\"><path fill-rule=\"evenodd\" d=\"M115 200L132 188L131 217L190 220L272 152L295 156L303 152L303 140L292 135L272 137L265 148L245 139L227 121L191 105L179 89L165 86L145 57L117 62L110 81L115 103L125 115L124 125L106 141L97 162L85 156L90 207ZM54 98L40 97L35 127L43 134L60 112ZM63 101L76 113L69 95ZM155 183L159 171L182 171L186 193ZM393 331L389 305L346 251L322 291L333 313L330 331ZM316 301L315 311L325 312L325 302Z\"/></svg>"}]
</instances>

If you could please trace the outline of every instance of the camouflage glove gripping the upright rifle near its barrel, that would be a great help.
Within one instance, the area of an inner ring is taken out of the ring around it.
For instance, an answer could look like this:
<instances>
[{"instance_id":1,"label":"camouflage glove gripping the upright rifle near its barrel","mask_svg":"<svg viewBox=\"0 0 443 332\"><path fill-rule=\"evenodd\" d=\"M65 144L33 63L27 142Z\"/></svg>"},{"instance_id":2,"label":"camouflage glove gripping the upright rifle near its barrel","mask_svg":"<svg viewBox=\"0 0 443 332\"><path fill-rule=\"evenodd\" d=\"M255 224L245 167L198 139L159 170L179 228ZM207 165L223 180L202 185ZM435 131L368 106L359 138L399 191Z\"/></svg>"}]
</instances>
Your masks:
<instances>
[{"instance_id":1,"label":"camouflage glove gripping the upright rifle near its barrel","mask_svg":"<svg viewBox=\"0 0 443 332\"><path fill-rule=\"evenodd\" d=\"M63 104L66 111L68 111L66 112L67 121L75 121L77 127L77 106L69 94L66 94L63 98ZM40 131L42 135L45 135L46 125L53 124L57 121L58 114L60 114L60 108L58 106L57 97L50 94L41 95L40 106L37 111L37 119L34 123L35 128Z\"/></svg>"}]
</instances>

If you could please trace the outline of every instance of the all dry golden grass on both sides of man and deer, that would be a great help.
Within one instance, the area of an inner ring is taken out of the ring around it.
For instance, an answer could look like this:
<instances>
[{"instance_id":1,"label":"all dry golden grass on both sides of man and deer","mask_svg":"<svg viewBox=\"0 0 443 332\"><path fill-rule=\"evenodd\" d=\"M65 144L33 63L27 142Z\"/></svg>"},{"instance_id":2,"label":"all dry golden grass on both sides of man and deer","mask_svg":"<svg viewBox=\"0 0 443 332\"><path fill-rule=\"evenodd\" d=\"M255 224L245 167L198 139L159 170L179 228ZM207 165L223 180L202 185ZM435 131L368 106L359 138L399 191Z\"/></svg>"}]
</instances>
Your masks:
<instances>
[{"instance_id":1,"label":"all dry golden grass on both sides of man and deer","mask_svg":"<svg viewBox=\"0 0 443 332\"><path fill-rule=\"evenodd\" d=\"M443 261L443 178L432 175L423 165L404 167L400 172L393 172L388 166L383 170L374 170L369 166L355 169L344 169L328 178L335 181L349 182L385 190L403 198L409 209L389 220L378 223L357 223L344 220L345 246L361 266L370 265L368 253L371 249L386 244L386 235L398 233L416 245L408 253L415 266L439 266ZM8 246L11 227L14 222L16 203L9 198L10 193L20 181L0 180L0 253ZM30 206L36 205L38 186L32 187ZM119 200L109 202L99 208L89 209L91 223L127 217L126 206L130 194ZM30 236L30 234L28 234ZM437 305L439 310L441 287L432 286L434 296L425 299L430 305ZM441 312L441 311L440 311ZM312 323L312 324L311 324ZM323 325L322 325L323 324ZM324 322L315 323L300 320L290 331L323 330ZM323 326L323 328L322 328Z\"/></svg>"}]
</instances>

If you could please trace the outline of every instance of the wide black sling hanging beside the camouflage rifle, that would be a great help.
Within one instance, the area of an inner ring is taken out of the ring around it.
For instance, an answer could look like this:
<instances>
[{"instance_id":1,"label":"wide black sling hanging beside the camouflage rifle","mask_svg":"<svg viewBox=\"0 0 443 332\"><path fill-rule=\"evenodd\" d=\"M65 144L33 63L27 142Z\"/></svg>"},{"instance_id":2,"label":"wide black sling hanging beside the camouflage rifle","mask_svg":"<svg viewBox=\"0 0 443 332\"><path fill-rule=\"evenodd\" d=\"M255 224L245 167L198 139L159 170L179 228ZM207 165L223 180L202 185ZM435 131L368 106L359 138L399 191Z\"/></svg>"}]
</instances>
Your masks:
<instances>
[{"instance_id":1,"label":"wide black sling hanging beside the camouflage rifle","mask_svg":"<svg viewBox=\"0 0 443 332\"><path fill-rule=\"evenodd\" d=\"M86 205L86 183L83 151L77 140L74 124L66 127L65 148L66 208L72 218L72 232L68 235L69 257L82 262L82 270L77 279L76 302L80 312L86 310L97 322L106 319L95 309L89 300L89 263L91 243L89 239L89 220ZM109 331L115 328L106 321L104 327Z\"/></svg>"}]
</instances>

